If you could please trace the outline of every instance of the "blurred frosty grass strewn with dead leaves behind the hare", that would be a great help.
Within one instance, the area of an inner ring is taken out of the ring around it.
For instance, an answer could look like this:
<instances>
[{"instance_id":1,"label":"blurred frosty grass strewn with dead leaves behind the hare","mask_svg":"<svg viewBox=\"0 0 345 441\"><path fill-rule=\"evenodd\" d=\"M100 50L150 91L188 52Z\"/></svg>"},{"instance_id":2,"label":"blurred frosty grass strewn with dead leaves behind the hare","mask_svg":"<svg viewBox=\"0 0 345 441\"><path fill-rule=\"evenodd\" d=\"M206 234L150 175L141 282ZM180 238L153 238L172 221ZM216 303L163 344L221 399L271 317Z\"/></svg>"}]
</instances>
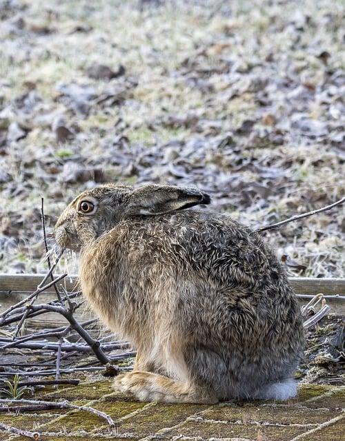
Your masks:
<instances>
[{"instance_id":1,"label":"blurred frosty grass strewn with dead leaves behind the hare","mask_svg":"<svg viewBox=\"0 0 345 441\"><path fill-rule=\"evenodd\" d=\"M107 181L196 185L257 228L345 189L341 0L0 0L0 272ZM344 206L265 233L290 275L344 277ZM70 272L75 265L68 263Z\"/></svg>"}]
</instances>

